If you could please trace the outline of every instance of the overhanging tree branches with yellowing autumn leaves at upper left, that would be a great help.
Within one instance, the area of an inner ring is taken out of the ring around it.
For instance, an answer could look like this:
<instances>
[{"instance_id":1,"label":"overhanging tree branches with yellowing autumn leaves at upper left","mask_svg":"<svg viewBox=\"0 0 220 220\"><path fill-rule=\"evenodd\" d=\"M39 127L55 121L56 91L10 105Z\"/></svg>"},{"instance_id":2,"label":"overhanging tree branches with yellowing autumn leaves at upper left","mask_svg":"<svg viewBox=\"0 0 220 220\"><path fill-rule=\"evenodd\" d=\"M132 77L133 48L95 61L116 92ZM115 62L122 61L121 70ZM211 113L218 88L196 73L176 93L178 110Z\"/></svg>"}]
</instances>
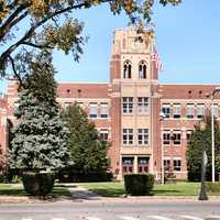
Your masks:
<instances>
[{"instance_id":1,"label":"overhanging tree branches with yellowing autumn leaves at upper left","mask_svg":"<svg viewBox=\"0 0 220 220\"><path fill-rule=\"evenodd\" d=\"M160 0L163 6L177 6L182 0ZM0 76L8 67L22 82L19 63L32 50L61 50L78 61L85 38L76 10L108 3L113 14L125 11L132 23L151 21L154 0L0 0ZM23 56L21 56L23 55Z\"/></svg>"}]
</instances>

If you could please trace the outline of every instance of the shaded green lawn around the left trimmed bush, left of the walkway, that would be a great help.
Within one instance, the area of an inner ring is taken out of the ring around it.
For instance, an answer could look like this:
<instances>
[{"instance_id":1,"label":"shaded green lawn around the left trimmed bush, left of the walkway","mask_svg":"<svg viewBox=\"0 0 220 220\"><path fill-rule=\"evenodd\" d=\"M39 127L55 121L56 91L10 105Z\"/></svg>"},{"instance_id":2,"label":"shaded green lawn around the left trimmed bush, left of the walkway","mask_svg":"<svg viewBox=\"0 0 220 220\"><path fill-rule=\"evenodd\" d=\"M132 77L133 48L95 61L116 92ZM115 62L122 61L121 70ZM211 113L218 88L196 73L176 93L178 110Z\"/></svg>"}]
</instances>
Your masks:
<instances>
[{"instance_id":1,"label":"shaded green lawn around the left trimmed bush, left of the walkway","mask_svg":"<svg viewBox=\"0 0 220 220\"><path fill-rule=\"evenodd\" d=\"M0 184L0 196L29 196L21 185ZM55 185L51 194L53 197L67 196L70 197L70 191L63 185Z\"/></svg>"}]
</instances>

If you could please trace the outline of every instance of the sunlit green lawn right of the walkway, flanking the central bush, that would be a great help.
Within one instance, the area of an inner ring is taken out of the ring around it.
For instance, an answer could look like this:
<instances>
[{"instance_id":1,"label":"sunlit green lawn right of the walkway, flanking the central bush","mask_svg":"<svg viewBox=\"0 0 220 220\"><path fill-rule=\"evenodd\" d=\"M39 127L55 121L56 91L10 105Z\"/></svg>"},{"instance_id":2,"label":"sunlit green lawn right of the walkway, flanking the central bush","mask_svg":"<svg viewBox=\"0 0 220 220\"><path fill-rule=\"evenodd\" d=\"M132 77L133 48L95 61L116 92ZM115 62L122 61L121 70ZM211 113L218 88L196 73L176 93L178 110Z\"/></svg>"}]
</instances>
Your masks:
<instances>
[{"instance_id":1,"label":"sunlit green lawn right of the walkway, flanking the central bush","mask_svg":"<svg viewBox=\"0 0 220 220\"><path fill-rule=\"evenodd\" d=\"M82 187L97 193L105 197L120 197L125 195L123 183L84 183ZM154 196L198 196L199 183L176 183L166 185L155 185L153 189ZM220 195L209 194L209 195Z\"/></svg>"}]
</instances>

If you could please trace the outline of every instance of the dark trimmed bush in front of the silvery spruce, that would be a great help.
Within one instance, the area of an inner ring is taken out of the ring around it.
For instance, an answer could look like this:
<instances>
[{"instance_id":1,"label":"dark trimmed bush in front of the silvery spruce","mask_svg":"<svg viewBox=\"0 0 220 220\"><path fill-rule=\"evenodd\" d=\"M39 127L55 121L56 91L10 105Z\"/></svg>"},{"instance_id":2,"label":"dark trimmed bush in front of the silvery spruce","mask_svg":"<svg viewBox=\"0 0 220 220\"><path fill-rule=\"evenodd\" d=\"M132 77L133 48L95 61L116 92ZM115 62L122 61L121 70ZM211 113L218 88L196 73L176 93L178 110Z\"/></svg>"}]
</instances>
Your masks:
<instances>
[{"instance_id":1,"label":"dark trimmed bush in front of the silvery spruce","mask_svg":"<svg viewBox=\"0 0 220 220\"><path fill-rule=\"evenodd\" d=\"M54 187L54 174L26 173L22 177L24 190L32 196L46 196Z\"/></svg>"}]
</instances>

